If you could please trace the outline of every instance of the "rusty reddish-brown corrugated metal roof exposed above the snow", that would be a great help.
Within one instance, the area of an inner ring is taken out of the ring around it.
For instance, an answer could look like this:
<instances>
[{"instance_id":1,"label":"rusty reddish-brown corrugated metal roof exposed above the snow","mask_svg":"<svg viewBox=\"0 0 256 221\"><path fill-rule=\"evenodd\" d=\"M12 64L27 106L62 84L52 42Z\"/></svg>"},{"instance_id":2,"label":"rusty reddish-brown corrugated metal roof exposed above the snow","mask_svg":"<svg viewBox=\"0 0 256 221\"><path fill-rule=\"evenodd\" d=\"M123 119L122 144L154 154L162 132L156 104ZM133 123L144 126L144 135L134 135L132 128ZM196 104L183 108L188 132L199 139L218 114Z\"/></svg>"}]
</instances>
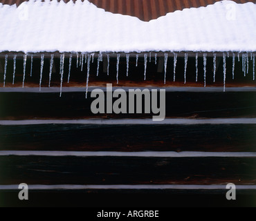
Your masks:
<instances>
[{"instance_id":1,"label":"rusty reddish-brown corrugated metal roof exposed above the snow","mask_svg":"<svg viewBox=\"0 0 256 221\"><path fill-rule=\"evenodd\" d=\"M26 0L0 0L3 4L19 6ZM70 0L64 0L68 2ZM76 1L76 0L73 0ZM82 0L84 1L84 0ZM199 8L208 6L221 0L89 0L91 3L106 11L122 15L131 15L140 20L157 19L168 12L183 10L184 8ZM233 0L236 3L253 2L255 0Z\"/></svg>"}]
</instances>

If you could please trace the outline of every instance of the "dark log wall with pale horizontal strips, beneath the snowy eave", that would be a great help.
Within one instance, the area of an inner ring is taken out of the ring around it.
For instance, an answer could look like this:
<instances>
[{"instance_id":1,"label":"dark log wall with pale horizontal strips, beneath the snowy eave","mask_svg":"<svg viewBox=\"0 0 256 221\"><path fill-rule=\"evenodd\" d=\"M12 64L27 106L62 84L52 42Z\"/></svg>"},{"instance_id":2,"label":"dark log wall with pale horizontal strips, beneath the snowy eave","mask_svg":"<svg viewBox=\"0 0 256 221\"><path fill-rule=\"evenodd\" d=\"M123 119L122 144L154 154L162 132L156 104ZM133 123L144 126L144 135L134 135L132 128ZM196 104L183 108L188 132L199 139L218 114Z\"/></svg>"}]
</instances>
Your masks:
<instances>
[{"instance_id":1,"label":"dark log wall with pale horizontal strips, beneath the snowy eave","mask_svg":"<svg viewBox=\"0 0 256 221\"><path fill-rule=\"evenodd\" d=\"M24 88L22 59L17 60L14 85L12 59L8 60L5 88L0 73L1 206L255 206L252 61L244 77L241 61L236 60L232 79L232 57L227 59L223 92L222 64L213 82L212 57L208 58L206 88L202 57L198 82L195 59L189 58L186 84L183 57L177 61L175 82L173 58L169 58L166 84L164 70L157 71L159 60L154 64L152 57L144 81L143 57L138 67L131 57L128 77L123 57L118 85L116 58L111 57L109 76L100 62L97 77L95 57L87 99L86 64L81 71L73 58L68 84L65 60L60 97L60 59L55 59L51 88L45 59L41 92L39 59L34 60L32 77L29 62L28 57ZM91 90L107 83L126 90L165 88L165 121L153 122L153 113L94 115ZM17 198L20 183L30 188L27 201ZM228 183L237 185L237 200L226 200Z\"/></svg>"}]
</instances>

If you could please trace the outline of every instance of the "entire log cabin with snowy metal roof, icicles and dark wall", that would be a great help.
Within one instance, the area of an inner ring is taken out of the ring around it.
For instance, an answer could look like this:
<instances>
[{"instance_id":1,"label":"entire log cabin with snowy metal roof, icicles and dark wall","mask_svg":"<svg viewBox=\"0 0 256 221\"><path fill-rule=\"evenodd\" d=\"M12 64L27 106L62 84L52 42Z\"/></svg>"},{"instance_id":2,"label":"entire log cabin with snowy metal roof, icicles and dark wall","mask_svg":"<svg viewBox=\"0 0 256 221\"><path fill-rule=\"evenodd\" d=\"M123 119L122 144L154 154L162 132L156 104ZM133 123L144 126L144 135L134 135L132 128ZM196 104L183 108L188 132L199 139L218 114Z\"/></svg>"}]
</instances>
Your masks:
<instances>
[{"instance_id":1,"label":"entire log cabin with snowy metal roof, icicles and dark wall","mask_svg":"<svg viewBox=\"0 0 256 221\"><path fill-rule=\"evenodd\" d=\"M247 0L1 1L0 205L255 206L255 12ZM164 89L165 119L93 113L107 84Z\"/></svg>"}]
</instances>

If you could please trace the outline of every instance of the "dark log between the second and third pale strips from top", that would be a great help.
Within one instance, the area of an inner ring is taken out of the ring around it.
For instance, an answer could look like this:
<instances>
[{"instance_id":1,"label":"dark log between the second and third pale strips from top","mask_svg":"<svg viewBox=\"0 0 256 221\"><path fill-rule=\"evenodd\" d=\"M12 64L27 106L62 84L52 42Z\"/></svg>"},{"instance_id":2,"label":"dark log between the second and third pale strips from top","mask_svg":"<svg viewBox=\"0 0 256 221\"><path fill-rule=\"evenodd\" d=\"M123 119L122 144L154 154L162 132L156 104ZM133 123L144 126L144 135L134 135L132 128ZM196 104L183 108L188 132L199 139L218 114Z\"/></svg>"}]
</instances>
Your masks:
<instances>
[{"instance_id":1,"label":"dark log between the second and third pale strips from top","mask_svg":"<svg viewBox=\"0 0 256 221\"><path fill-rule=\"evenodd\" d=\"M255 124L0 126L6 151L255 152Z\"/></svg>"}]
</instances>

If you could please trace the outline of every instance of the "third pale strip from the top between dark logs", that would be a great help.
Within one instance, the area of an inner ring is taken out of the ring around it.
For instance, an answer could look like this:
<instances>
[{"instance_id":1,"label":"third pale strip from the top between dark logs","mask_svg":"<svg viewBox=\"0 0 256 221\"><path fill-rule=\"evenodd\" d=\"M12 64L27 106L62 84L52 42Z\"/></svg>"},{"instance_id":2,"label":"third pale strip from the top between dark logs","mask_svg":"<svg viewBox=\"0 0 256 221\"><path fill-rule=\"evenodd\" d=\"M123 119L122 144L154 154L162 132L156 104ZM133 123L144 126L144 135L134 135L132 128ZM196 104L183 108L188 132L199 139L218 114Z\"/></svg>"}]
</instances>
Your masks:
<instances>
[{"instance_id":1,"label":"third pale strip from the top between dark logs","mask_svg":"<svg viewBox=\"0 0 256 221\"><path fill-rule=\"evenodd\" d=\"M196 151L0 151L0 156L6 155L37 155L51 157L256 157L256 152L196 152Z\"/></svg>"}]
</instances>

